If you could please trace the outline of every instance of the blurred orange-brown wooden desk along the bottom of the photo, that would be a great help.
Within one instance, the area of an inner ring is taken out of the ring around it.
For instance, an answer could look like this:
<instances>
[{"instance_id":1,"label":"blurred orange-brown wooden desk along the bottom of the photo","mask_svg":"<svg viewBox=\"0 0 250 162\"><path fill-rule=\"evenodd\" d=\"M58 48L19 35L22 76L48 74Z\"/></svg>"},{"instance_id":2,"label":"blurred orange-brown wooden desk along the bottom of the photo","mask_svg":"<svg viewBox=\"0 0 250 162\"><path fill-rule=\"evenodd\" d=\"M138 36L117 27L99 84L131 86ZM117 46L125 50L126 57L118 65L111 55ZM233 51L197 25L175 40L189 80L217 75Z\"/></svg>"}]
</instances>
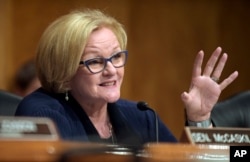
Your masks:
<instances>
[{"instance_id":1,"label":"blurred orange-brown wooden desk along the bottom of the photo","mask_svg":"<svg viewBox=\"0 0 250 162\"><path fill-rule=\"evenodd\" d=\"M229 146L149 143L138 153L103 151L107 146L66 141L0 141L0 161L4 162L229 162ZM84 150L100 150L94 154Z\"/></svg>"}]
</instances>

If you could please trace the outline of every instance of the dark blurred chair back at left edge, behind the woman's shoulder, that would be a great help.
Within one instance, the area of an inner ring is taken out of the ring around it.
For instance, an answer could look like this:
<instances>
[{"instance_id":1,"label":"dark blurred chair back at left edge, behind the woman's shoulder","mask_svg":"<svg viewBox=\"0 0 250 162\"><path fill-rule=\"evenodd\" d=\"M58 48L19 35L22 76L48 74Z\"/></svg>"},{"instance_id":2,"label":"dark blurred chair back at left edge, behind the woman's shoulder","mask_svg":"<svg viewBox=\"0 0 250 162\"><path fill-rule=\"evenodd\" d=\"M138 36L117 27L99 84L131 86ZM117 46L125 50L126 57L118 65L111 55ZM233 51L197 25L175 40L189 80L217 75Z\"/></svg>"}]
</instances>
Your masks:
<instances>
[{"instance_id":1,"label":"dark blurred chair back at left edge, behind the woman's shoulder","mask_svg":"<svg viewBox=\"0 0 250 162\"><path fill-rule=\"evenodd\" d=\"M14 116L22 97L0 90L0 116Z\"/></svg>"}]
</instances>

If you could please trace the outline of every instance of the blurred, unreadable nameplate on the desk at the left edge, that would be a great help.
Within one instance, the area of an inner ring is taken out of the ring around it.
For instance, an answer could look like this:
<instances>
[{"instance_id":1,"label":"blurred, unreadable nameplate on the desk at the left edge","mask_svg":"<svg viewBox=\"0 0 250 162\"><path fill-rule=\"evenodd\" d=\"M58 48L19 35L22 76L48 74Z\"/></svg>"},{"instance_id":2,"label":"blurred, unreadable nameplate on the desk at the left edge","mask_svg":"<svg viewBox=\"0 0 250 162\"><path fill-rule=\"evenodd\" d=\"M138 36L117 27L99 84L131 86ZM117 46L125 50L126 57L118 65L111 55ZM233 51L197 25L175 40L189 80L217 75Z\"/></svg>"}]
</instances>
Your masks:
<instances>
[{"instance_id":1,"label":"blurred, unreadable nameplate on the desk at the left edge","mask_svg":"<svg viewBox=\"0 0 250 162\"><path fill-rule=\"evenodd\" d=\"M52 120L40 117L0 116L0 140L58 140Z\"/></svg>"}]
</instances>

